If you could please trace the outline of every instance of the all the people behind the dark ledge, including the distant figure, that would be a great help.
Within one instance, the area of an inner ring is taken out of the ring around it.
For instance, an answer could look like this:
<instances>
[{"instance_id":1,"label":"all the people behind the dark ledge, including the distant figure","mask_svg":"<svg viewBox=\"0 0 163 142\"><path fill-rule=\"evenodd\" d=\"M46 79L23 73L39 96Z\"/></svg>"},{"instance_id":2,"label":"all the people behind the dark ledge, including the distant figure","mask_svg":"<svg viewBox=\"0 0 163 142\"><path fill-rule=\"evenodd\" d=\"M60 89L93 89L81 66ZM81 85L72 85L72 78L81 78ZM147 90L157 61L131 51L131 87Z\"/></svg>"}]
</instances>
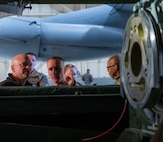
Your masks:
<instances>
[{"instance_id":1,"label":"all the people behind the dark ledge, including the distant figure","mask_svg":"<svg viewBox=\"0 0 163 142\"><path fill-rule=\"evenodd\" d=\"M108 60L108 72L110 76L120 80L119 58L116 56ZM116 59L116 60L115 60ZM36 55L34 53L18 54L11 62L11 73L8 74L6 80L0 82L0 86L49 86L46 75L38 72L34 67L36 65ZM68 64L64 66L64 60L60 57L51 57L47 60L48 75L54 86L82 86L77 82L77 69L74 65ZM114 73L116 72L116 74ZM85 85L90 85L93 76L90 70L81 76Z\"/></svg>"}]
</instances>

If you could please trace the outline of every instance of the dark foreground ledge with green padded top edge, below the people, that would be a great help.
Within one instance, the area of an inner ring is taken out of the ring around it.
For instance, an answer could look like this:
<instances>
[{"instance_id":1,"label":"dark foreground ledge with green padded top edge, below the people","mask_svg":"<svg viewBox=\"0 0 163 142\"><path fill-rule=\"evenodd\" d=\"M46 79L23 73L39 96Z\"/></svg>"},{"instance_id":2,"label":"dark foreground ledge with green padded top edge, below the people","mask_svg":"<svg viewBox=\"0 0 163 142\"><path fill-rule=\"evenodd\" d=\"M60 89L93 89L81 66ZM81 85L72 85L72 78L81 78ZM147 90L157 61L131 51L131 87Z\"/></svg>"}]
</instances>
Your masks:
<instances>
[{"instance_id":1,"label":"dark foreground ledge with green padded top edge, below the people","mask_svg":"<svg viewBox=\"0 0 163 142\"><path fill-rule=\"evenodd\" d=\"M114 142L129 127L124 106L115 85L0 87L0 141Z\"/></svg>"}]
</instances>

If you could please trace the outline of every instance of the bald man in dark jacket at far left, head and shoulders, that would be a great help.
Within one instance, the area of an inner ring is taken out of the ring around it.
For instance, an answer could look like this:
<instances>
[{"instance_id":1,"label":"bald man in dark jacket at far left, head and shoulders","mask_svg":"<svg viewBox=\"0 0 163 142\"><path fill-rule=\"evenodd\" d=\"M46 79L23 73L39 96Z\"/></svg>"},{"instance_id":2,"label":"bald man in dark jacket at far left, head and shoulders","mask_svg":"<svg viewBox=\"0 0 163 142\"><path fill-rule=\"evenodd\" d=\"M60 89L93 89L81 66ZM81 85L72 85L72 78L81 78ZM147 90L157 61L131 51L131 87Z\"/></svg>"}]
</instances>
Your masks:
<instances>
[{"instance_id":1,"label":"bald man in dark jacket at far left, head and shoulders","mask_svg":"<svg viewBox=\"0 0 163 142\"><path fill-rule=\"evenodd\" d=\"M0 86L32 86L27 79L31 73L31 61L25 54L16 55L11 62L11 73Z\"/></svg>"}]
</instances>

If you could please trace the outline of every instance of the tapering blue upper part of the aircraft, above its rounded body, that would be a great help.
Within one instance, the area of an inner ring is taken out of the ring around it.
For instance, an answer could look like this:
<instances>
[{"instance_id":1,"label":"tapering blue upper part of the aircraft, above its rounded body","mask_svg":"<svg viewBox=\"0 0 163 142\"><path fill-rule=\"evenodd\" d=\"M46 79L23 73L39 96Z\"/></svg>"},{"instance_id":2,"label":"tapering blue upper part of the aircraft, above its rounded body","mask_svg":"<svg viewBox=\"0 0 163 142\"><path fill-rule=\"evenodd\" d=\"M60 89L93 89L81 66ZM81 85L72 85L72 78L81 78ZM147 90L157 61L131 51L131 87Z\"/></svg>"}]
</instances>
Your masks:
<instances>
[{"instance_id":1,"label":"tapering blue upper part of the aircraft, above its rounded body","mask_svg":"<svg viewBox=\"0 0 163 142\"><path fill-rule=\"evenodd\" d=\"M133 4L106 4L86 10L42 18L42 22L90 24L124 28L133 11Z\"/></svg>"}]
</instances>

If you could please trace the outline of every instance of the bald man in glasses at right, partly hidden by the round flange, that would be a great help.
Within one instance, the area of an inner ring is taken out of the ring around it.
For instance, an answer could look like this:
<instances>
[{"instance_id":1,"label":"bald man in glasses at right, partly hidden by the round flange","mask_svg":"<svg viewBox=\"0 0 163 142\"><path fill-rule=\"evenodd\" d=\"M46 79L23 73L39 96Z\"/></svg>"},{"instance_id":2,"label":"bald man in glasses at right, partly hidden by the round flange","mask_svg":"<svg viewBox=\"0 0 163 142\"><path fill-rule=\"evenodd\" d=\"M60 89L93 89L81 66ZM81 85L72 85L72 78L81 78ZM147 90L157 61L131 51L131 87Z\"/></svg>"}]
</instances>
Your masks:
<instances>
[{"instance_id":1,"label":"bald man in glasses at right, partly hidden by the round flange","mask_svg":"<svg viewBox=\"0 0 163 142\"><path fill-rule=\"evenodd\" d=\"M113 55L108 59L107 70L115 85L120 85L119 55Z\"/></svg>"}]
</instances>

